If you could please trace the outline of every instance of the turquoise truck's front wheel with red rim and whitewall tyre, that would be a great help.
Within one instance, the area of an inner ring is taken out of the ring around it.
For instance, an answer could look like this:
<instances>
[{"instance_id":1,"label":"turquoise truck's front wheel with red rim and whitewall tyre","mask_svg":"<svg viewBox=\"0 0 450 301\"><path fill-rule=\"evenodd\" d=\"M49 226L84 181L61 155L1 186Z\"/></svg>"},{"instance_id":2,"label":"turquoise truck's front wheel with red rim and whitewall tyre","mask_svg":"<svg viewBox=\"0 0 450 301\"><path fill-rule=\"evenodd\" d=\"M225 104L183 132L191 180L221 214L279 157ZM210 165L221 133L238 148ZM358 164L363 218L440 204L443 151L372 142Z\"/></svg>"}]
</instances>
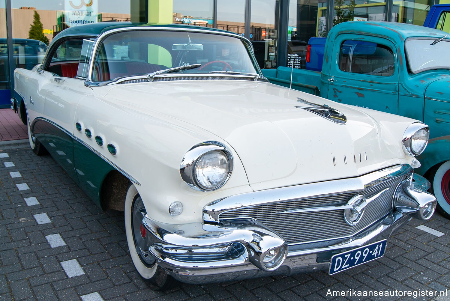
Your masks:
<instances>
[{"instance_id":1,"label":"turquoise truck's front wheel with red rim and whitewall tyre","mask_svg":"<svg viewBox=\"0 0 450 301\"><path fill-rule=\"evenodd\" d=\"M437 168L432 184L433 193L437 198L437 209L450 219L450 161Z\"/></svg>"}]
</instances>

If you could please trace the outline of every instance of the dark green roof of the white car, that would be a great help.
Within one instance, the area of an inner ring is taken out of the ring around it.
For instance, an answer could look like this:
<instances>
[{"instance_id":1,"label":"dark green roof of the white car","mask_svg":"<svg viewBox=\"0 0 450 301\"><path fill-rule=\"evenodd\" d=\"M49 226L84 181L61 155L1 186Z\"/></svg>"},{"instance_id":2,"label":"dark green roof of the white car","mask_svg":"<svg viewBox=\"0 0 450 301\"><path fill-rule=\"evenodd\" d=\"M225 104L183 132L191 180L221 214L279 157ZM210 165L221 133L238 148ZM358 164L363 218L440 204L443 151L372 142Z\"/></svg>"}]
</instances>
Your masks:
<instances>
[{"instance_id":1,"label":"dark green roof of the white car","mask_svg":"<svg viewBox=\"0 0 450 301\"><path fill-rule=\"evenodd\" d=\"M164 24L164 25L151 25L146 23L133 23L133 22L98 22L91 23L85 25L77 25L73 27L69 27L59 32L58 35L55 36L55 39L60 39L66 36L74 36L74 35L88 35L88 36L98 36L105 31L116 29L116 28L124 28L124 27L172 27L172 28L185 28L185 29L203 29L210 30L211 32L227 32L221 29L211 28L211 27L200 27L193 25L184 25L184 24Z\"/></svg>"}]
</instances>

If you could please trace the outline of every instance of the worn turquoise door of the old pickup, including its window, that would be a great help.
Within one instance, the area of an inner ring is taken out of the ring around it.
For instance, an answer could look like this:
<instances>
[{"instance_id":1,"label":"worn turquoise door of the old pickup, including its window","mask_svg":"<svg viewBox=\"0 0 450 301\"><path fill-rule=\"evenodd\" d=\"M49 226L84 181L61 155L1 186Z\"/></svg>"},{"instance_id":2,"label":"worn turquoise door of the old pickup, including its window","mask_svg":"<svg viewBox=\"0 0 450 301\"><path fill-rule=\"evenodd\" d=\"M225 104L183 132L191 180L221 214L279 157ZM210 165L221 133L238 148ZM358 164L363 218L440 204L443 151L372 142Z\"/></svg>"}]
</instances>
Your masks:
<instances>
[{"instance_id":1,"label":"worn turquoise door of the old pickup, including its window","mask_svg":"<svg viewBox=\"0 0 450 301\"><path fill-rule=\"evenodd\" d=\"M328 79L328 98L398 113L399 70L394 44L378 37L343 34L336 38Z\"/></svg>"}]
</instances>

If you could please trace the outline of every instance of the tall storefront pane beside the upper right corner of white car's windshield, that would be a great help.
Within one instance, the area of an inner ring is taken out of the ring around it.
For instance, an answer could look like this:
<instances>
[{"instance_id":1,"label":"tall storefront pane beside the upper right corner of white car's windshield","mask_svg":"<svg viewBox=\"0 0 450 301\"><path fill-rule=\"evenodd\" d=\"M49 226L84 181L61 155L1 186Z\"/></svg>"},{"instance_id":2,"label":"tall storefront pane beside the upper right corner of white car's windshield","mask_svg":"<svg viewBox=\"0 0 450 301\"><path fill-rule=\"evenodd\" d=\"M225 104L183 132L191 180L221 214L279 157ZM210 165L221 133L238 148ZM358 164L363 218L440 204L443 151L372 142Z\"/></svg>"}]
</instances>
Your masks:
<instances>
[{"instance_id":1,"label":"tall storefront pane beside the upper right corner of white car's windshield","mask_svg":"<svg viewBox=\"0 0 450 301\"><path fill-rule=\"evenodd\" d=\"M261 69L276 69L279 0L252 0L250 40Z\"/></svg>"}]
</instances>

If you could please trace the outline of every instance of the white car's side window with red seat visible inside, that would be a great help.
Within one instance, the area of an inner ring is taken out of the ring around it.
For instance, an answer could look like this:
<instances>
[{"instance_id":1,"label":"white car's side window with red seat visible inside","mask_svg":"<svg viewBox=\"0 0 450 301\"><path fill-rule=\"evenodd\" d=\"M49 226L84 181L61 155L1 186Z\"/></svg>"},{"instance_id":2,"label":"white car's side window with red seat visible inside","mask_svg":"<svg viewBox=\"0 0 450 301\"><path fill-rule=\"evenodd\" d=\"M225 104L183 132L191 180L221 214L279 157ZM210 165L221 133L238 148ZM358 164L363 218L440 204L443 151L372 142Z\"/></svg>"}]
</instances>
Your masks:
<instances>
[{"instance_id":1,"label":"white car's side window with red seat visible inside","mask_svg":"<svg viewBox=\"0 0 450 301\"><path fill-rule=\"evenodd\" d=\"M83 39L61 42L52 54L47 71L55 76L76 77L78 63L81 59Z\"/></svg>"}]
</instances>

